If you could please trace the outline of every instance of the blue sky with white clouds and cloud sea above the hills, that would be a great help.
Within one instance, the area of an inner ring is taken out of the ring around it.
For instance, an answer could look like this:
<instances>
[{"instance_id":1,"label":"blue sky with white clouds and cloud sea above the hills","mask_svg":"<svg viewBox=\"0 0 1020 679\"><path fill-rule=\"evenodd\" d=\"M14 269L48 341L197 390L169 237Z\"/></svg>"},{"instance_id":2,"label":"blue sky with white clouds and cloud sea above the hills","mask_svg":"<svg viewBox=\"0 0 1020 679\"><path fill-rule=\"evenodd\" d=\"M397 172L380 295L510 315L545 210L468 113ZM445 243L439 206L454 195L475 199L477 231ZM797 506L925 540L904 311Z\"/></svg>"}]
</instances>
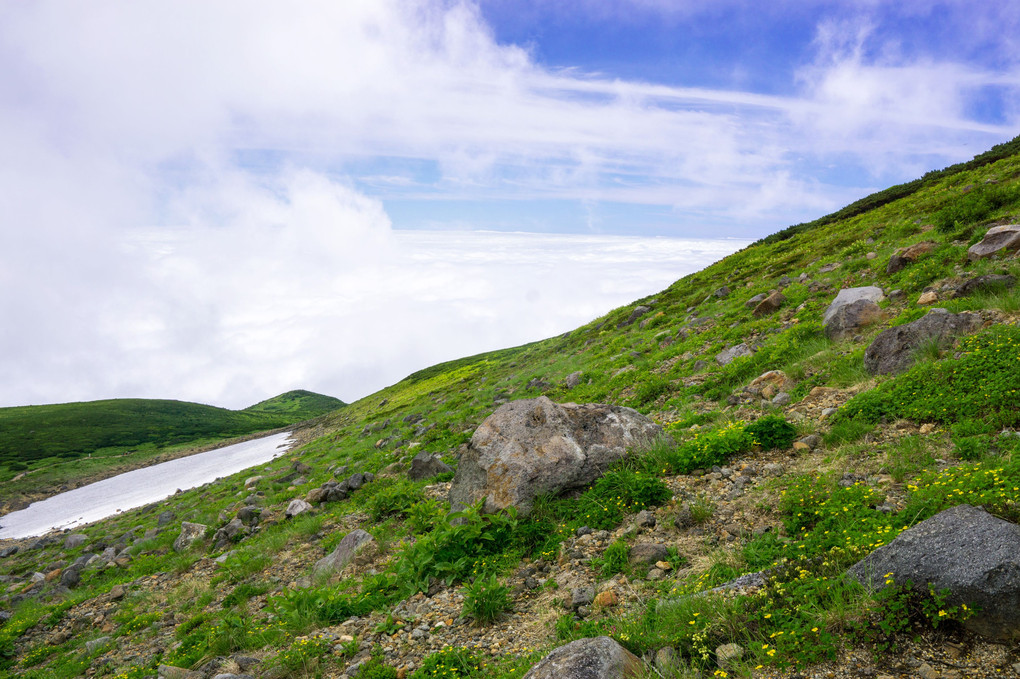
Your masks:
<instances>
[{"instance_id":1,"label":"blue sky with white clouds and cloud sea above the hills","mask_svg":"<svg viewBox=\"0 0 1020 679\"><path fill-rule=\"evenodd\" d=\"M0 0L0 407L353 401L967 160L1018 95L1007 0Z\"/></svg>"}]
</instances>

